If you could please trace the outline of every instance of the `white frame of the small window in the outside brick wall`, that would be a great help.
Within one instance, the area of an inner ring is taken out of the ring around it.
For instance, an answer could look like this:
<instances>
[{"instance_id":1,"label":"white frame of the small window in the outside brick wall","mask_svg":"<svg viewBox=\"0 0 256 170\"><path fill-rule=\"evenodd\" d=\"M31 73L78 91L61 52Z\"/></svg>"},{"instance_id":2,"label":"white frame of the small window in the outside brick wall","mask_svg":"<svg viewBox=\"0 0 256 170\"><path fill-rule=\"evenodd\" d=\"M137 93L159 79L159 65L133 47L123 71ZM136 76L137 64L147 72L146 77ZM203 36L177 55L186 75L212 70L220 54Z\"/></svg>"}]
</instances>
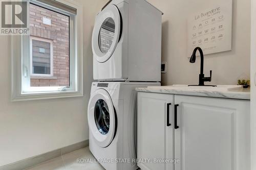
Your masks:
<instances>
[{"instance_id":1,"label":"white frame of the small window in the outside brick wall","mask_svg":"<svg viewBox=\"0 0 256 170\"><path fill-rule=\"evenodd\" d=\"M33 40L50 43L50 74L33 74ZM31 77L53 77L53 40L30 36L30 78Z\"/></svg>"}]
</instances>

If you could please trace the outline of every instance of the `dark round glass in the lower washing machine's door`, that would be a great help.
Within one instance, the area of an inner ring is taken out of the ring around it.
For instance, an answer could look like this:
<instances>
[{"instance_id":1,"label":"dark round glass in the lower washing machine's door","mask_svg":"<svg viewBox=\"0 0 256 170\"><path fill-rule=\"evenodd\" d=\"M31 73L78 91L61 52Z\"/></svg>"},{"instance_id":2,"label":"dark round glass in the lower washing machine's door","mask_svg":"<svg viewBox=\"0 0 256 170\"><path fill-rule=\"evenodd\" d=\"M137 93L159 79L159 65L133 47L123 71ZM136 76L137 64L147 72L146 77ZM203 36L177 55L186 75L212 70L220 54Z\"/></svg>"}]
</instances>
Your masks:
<instances>
[{"instance_id":1,"label":"dark round glass in the lower washing machine's door","mask_svg":"<svg viewBox=\"0 0 256 170\"><path fill-rule=\"evenodd\" d=\"M94 118L96 126L102 135L109 133L110 130L110 112L108 104L102 99L95 104Z\"/></svg>"}]
</instances>

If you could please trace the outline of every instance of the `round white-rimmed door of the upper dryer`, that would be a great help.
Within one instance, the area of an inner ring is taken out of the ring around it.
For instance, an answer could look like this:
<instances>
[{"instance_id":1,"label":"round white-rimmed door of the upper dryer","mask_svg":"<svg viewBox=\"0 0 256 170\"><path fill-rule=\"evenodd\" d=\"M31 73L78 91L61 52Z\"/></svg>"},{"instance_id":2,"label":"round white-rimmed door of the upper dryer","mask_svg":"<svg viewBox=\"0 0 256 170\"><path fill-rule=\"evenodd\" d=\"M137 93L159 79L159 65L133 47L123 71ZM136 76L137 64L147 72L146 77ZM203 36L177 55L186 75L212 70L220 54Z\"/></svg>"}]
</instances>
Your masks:
<instances>
[{"instance_id":1,"label":"round white-rimmed door of the upper dryer","mask_svg":"<svg viewBox=\"0 0 256 170\"><path fill-rule=\"evenodd\" d=\"M107 61L116 49L121 31L120 18L115 5L106 7L96 18L92 35L92 50L93 56L100 63Z\"/></svg>"}]
</instances>

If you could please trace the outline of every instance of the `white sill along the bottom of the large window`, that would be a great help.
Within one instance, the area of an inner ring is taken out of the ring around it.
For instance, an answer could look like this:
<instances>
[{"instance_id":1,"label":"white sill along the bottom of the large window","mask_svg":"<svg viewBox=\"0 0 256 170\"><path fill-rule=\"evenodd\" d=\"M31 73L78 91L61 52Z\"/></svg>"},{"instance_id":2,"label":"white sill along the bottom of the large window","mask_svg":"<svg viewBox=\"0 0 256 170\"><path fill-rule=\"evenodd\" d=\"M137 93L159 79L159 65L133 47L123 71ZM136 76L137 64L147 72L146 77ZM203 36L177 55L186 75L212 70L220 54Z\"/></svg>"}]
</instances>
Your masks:
<instances>
[{"instance_id":1,"label":"white sill along the bottom of the large window","mask_svg":"<svg viewBox=\"0 0 256 170\"><path fill-rule=\"evenodd\" d=\"M19 96L15 96L11 101L18 102L44 99L74 98L82 96L83 93L79 91L26 92L20 94Z\"/></svg>"}]
</instances>

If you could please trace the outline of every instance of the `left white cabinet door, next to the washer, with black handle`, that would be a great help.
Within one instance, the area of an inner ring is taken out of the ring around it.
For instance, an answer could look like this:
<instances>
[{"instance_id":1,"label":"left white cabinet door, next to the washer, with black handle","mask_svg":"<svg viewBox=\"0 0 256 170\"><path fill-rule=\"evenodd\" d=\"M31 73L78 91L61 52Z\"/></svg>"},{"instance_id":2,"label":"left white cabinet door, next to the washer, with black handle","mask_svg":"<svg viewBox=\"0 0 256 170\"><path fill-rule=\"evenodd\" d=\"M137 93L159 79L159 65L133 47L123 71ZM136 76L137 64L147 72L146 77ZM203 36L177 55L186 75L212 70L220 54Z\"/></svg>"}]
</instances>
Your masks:
<instances>
[{"instance_id":1,"label":"left white cabinet door, next to the washer, with black handle","mask_svg":"<svg viewBox=\"0 0 256 170\"><path fill-rule=\"evenodd\" d=\"M138 159L144 161L138 162L141 169L174 169L172 163L159 162L174 158L173 111L174 95L138 93Z\"/></svg>"}]
</instances>

